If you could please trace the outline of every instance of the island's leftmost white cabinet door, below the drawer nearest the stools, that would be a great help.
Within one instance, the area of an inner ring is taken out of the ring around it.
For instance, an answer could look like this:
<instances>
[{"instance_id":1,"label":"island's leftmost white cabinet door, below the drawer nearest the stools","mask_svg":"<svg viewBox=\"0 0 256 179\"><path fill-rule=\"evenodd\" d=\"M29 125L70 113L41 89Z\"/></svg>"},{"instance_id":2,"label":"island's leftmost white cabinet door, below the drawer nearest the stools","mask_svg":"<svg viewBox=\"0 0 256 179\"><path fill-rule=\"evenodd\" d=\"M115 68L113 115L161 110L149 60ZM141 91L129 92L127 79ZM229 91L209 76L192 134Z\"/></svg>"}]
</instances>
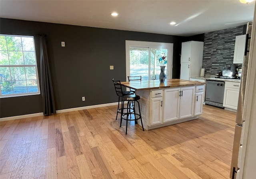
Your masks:
<instances>
[{"instance_id":1,"label":"island's leftmost white cabinet door, below the drawer nearest the stools","mask_svg":"<svg viewBox=\"0 0 256 179\"><path fill-rule=\"evenodd\" d=\"M151 125L162 122L162 98L151 99Z\"/></svg>"}]
</instances>

